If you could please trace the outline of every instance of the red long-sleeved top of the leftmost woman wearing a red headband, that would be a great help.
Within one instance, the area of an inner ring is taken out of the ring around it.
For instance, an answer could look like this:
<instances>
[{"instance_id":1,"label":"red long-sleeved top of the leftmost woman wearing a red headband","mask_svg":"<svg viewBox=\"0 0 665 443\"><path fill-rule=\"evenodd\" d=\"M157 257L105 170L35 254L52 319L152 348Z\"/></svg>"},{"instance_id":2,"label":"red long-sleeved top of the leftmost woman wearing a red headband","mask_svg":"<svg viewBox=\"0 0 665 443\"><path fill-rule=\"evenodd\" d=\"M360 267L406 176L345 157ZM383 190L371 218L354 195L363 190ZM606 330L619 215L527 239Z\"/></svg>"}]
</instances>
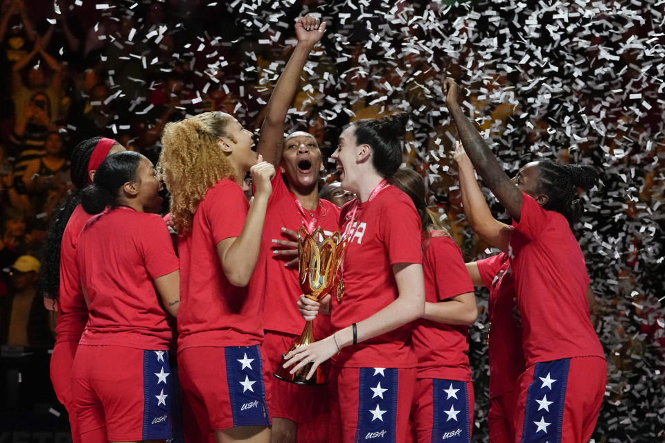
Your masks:
<instances>
[{"instance_id":1,"label":"red long-sleeved top of the leftmost woman wearing a red headband","mask_svg":"<svg viewBox=\"0 0 665 443\"><path fill-rule=\"evenodd\" d=\"M80 273L76 263L76 243L88 219L92 217L78 205L71 213L60 243L60 288L57 300L55 341L78 342L88 321L88 307L81 291Z\"/></svg>"}]
</instances>

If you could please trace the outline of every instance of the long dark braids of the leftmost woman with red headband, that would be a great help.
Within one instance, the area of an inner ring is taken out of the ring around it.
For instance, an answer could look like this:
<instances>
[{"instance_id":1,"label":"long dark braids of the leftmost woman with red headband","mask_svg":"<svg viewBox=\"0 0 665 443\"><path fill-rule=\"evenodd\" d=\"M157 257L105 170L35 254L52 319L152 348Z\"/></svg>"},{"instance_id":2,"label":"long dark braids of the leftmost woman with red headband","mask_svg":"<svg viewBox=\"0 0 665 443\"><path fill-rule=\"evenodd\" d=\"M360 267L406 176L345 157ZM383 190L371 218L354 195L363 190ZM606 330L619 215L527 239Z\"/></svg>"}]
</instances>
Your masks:
<instances>
[{"instance_id":1,"label":"long dark braids of the leftmost woman with red headband","mask_svg":"<svg viewBox=\"0 0 665 443\"><path fill-rule=\"evenodd\" d=\"M46 232L46 241L42 249L42 269L39 272L37 292L46 298L57 300L60 287L60 244L62 234L71 214L81 202L80 190L88 181L88 163L101 137L88 138L74 148L71 154L71 183L76 190L67 197L64 204L53 213L51 225Z\"/></svg>"}]
</instances>

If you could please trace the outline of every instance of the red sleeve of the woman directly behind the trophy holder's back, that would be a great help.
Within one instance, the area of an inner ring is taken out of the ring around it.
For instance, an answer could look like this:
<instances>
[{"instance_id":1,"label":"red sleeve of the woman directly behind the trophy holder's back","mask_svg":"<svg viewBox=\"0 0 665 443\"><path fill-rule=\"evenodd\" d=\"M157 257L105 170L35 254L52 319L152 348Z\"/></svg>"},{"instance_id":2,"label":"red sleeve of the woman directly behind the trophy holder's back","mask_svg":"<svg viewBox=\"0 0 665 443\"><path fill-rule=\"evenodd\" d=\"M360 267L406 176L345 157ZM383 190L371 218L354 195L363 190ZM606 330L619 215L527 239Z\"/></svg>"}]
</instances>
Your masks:
<instances>
[{"instance_id":1,"label":"red sleeve of the woman directly behind the trophy holder's back","mask_svg":"<svg viewBox=\"0 0 665 443\"><path fill-rule=\"evenodd\" d=\"M436 281L436 300L443 301L473 292L473 283L466 270L462 251L450 237L429 239L425 255Z\"/></svg>"}]
</instances>

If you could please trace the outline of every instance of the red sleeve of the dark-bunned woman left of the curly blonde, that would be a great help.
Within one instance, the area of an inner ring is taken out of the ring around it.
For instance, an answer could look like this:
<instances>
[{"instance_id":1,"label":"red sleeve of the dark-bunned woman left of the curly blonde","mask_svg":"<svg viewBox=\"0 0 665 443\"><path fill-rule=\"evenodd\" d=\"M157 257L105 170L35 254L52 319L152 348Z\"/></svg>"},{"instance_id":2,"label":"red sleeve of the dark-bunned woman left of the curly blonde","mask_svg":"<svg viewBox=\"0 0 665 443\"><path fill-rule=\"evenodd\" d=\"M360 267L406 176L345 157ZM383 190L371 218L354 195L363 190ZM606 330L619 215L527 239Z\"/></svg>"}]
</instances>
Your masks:
<instances>
[{"instance_id":1,"label":"red sleeve of the dark-bunned woman left of the curly blonde","mask_svg":"<svg viewBox=\"0 0 665 443\"><path fill-rule=\"evenodd\" d=\"M143 263L150 278L158 278L180 269L180 262L173 251L168 228L159 215L145 217L139 231Z\"/></svg>"}]
</instances>

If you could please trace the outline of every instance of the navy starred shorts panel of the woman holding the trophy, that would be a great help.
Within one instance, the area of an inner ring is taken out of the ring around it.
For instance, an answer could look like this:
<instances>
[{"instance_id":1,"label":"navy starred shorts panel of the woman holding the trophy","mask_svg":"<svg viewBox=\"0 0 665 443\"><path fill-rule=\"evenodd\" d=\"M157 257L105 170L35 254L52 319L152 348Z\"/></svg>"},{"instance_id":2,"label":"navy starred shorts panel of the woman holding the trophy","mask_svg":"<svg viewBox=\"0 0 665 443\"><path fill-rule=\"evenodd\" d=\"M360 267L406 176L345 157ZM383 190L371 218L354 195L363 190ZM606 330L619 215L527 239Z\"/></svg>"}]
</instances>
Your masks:
<instances>
[{"instance_id":1,"label":"navy starred shorts panel of the woman holding the trophy","mask_svg":"<svg viewBox=\"0 0 665 443\"><path fill-rule=\"evenodd\" d=\"M395 442L397 371L395 368L360 368L356 442Z\"/></svg>"}]
</instances>

